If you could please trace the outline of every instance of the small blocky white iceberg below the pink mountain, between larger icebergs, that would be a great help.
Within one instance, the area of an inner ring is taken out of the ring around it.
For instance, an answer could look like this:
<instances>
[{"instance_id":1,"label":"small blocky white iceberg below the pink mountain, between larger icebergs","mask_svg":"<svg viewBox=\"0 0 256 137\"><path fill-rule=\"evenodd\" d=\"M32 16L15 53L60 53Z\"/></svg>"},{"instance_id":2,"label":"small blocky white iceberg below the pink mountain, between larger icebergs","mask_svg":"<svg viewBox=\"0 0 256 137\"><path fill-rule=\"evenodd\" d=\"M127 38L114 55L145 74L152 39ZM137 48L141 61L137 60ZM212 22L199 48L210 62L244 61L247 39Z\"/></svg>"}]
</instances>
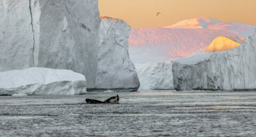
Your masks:
<instances>
[{"instance_id":1,"label":"small blocky white iceberg below the pink mountain, between larger icebergs","mask_svg":"<svg viewBox=\"0 0 256 137\"><path fill-rule=\"evenodd\" d=\"M172 61L135 64L139 90L173 90Z\"/></svg>"}]
</instances>

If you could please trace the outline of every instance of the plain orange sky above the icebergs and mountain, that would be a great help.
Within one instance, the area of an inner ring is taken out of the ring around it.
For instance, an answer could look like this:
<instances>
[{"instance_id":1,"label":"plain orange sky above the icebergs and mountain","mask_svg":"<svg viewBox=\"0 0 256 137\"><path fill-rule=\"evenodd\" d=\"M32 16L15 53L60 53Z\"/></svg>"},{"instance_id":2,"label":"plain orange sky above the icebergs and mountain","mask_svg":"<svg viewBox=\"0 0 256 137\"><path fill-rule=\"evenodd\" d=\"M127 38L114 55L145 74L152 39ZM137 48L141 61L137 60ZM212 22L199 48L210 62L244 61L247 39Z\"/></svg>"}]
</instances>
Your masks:
<instances>
[{"instance_id":1,"label":"plain orange sky above the icebergs and mountain","mask_svg":"<svg viewBox=\"0 0 256 137\"><path fill-rule=\"evenodd\" d=\"M199 16L256 26L256 0L99 0L99 10L132 28L169 26ZM162 14L156 17L157 12Z\"/></svg>"}]
</instances>

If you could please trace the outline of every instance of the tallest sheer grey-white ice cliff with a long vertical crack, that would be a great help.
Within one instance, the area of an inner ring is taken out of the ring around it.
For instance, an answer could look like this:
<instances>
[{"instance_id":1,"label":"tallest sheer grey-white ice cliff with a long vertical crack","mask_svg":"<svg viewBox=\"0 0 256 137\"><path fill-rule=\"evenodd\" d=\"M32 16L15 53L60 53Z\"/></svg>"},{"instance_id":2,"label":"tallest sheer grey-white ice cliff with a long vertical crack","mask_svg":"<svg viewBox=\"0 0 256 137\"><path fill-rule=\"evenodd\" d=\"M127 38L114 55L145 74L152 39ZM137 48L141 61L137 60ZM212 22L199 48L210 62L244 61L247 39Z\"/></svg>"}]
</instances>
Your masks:
<instances>
[{"instance_id":1,"label":"tallest sheer grey-white ice cliff with a long vertical crack","mask_svg":"<svg viewBox=\"0 0 256 137\"><path fill-rule=\"evenodd\" d=\"M95 0L0 1L0 71L45 67L96 78L100 16Z\"/></svg>"}]
</instances>

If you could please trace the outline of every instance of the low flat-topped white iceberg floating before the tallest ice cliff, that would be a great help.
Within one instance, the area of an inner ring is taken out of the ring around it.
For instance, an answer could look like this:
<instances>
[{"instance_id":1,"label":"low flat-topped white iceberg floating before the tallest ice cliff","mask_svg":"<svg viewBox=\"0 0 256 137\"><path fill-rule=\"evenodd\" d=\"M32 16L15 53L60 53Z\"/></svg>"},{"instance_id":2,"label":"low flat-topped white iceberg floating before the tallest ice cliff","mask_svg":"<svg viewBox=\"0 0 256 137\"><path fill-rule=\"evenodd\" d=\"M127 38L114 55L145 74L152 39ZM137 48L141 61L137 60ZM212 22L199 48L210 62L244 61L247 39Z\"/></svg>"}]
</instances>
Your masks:
<instances>
[{"instance_id":1,"label":"low flat-topped white iceberg floating before the tallest ice cliff","mask_svg":"<svg viewBox=\"0 0 256 137\"><path fill-rule=\"evenodd\" d=\"M0 72L0 95L75 95L85 93L85 76L71 70L28 68Z\"/></svg>"}]
</instances>

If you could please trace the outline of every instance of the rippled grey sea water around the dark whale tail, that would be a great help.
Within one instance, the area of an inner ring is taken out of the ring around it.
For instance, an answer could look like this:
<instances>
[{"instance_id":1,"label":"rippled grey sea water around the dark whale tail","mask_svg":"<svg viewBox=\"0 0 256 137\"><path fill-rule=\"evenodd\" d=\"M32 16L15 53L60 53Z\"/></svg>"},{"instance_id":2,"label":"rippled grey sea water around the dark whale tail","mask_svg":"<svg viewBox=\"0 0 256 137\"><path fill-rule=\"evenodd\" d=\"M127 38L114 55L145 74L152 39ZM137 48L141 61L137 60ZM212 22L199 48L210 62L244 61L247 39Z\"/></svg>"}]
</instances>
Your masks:
<instances>
[{"instance_id":1,"label":"rippled grey sea water around the dark whale tail","mask_svg":"<svg viewBox=\"0 0 256 137\"><path fill-rule=\"evenodd\" d=\"M0 96L0 136L255 136L256 92Z\"/></svg>"}]
</instances>

